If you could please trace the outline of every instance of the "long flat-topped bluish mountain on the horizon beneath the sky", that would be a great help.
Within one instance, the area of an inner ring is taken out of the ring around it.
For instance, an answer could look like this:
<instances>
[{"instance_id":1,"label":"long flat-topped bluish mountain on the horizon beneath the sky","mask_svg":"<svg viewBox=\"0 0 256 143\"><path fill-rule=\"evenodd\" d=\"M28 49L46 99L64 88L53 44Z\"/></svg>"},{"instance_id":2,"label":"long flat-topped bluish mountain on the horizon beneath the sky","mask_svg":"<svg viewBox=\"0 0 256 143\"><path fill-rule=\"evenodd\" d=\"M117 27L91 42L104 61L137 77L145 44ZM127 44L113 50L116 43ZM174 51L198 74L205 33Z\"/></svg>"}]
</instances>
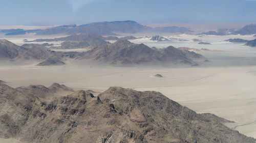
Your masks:
<instances>
[{"instance_id":1,"label":"long flat-topped bluish mountain on the horizon beneath the sky","mask_svg":"<svg viewBox=\"0 0 256 143\"><path fill-rule=\"evenodd\" d=\"M7 31L5 31L7 32ZM96 34L96 35L117 35L116 33L140 33L140 32L160 32L160 33L189 33L193 32L189 28L185 27L148 27L141 25L135 21L112 21L112 22L94 22L83 25L61 25L56 27L47 28L45 30L31 30L25 31L9 30L10 35L22 35L26 33L36 33L37 35L53 35L53 34Z\"/></svg>"}]
</instances>

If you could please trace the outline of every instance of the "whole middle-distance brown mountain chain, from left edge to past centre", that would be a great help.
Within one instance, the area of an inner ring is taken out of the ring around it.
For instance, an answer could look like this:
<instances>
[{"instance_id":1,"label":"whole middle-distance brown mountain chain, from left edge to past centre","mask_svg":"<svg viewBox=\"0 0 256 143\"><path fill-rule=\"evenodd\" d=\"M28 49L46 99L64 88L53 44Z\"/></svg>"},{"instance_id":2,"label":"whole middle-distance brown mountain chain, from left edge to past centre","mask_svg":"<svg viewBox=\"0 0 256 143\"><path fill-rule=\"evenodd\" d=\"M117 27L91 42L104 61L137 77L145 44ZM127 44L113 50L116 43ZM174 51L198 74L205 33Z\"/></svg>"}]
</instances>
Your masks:
<instances>
[{"instance_id":1,"label":"whole middle-distance brown mountain chain, from left edge to past centre","mask_svg":"<svg viewBox=\"0 0 256 143\"><path fill-rule=\"evenodd\" d=\"M1 40L2 55L0 58L13 61L41 62L38 66L63 65L66 60L70 59L112 65L194 65L196 64L194 59L204 59L201 54L180 50L173 46L157 49L144 44L134 44L127 40L118 40L113 44L105 43L95 45L85 52L56 52L42 45L25 44L24 47L20 47L7 40Z\"/></svg>"}]
</instances>

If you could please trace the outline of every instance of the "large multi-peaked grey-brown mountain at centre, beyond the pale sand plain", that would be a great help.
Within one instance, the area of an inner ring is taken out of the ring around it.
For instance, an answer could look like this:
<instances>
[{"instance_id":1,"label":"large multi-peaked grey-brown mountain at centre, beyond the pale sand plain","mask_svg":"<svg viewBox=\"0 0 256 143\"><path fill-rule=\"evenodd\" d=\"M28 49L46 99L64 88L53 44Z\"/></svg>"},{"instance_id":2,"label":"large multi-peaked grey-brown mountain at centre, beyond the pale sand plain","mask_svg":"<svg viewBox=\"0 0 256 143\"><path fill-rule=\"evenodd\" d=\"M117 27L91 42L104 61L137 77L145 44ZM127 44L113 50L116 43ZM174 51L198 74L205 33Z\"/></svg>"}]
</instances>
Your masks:
<instances>
[{"instance_id":1,"label":"large multi-peaked grey-brown mountain at centre, beyond the pale sand plain","mask_svg":"<svg viewBox=\"0 0 256 143\"><path fill-rule=\"evenodd\" d=\"M113 44L97 46L87 52L80 59L93 60L110 64L192 64L195 63L188 56L198 55L190 51L183 51L172 46L163 49L150 48L144 44L134 44L127 40L118 40Z\"/></svg>"}]
</instances>

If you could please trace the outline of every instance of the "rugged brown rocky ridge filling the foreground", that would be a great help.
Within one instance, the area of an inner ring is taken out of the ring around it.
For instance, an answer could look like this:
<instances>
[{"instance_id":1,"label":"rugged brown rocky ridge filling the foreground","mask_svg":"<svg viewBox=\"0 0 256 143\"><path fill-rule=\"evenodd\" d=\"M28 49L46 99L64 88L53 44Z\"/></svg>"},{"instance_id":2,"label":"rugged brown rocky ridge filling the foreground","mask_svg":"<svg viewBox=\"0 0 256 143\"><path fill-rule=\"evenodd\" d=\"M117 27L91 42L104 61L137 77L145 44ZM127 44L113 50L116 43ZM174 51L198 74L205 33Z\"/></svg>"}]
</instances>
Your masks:
<instances>
[{"instance_id":1,"label":"rugged brown rocky ridge filling the foreground","mask_svg":"<svg viewBox=\"0 0 256 143\"><path fill-rule=\"evenodd\" d=\"M97 97L80 90L43 100L0 83L0 97L0 137L26 142L256 141L223 125L230 121L197 114L158 92L113 87Z\"/></svg>"}]
</instances>

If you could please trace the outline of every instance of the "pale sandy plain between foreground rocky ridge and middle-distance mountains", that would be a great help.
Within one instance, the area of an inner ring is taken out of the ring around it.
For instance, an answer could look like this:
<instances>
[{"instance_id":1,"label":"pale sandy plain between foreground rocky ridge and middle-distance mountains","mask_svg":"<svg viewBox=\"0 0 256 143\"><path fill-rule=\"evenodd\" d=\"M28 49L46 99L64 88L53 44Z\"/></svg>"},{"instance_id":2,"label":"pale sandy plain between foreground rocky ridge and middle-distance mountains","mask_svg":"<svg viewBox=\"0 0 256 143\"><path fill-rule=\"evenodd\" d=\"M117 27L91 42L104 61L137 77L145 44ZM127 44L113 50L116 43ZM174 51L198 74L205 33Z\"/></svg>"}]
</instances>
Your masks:
<instances>
[{"instance_id":1,"label":"pale sandy plain between foreground rocky ridge and middle-distance mountains","mask_svg":"<svg viewBox=\"0 0 256 143\"><path fill-rule=\"evenodd\" d=\"M164 77L152 77L155 74ZM227 124L256 137L256 66L215 68L118 68L89 66L2 66L0 79L11 87L63 83L76 90L111 86L158 91L198 113L234 121Z\"/></svg>"}]
</instances>

